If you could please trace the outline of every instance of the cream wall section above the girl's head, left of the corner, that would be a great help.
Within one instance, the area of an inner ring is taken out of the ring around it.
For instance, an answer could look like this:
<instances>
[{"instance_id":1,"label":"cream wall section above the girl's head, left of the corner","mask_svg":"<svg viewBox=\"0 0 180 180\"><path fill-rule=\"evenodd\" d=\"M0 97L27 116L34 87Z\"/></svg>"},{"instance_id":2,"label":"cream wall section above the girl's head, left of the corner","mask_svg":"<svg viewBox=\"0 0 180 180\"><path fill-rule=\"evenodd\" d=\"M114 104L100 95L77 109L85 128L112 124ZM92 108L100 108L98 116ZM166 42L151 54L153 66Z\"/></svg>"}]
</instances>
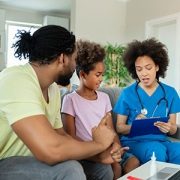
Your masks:
<instances>
[{"instance_id":1,"label":"cream wall section above the girl's head, left of the corner","mask_svg":"<svg viewBox=\"0 0 180 180\"><path fill-rule=\"evenodd\" d=\"M117 0L73 0L71 29L77 38L99 43L124 41L126 3Z\"/></svg>"}]
</instances>

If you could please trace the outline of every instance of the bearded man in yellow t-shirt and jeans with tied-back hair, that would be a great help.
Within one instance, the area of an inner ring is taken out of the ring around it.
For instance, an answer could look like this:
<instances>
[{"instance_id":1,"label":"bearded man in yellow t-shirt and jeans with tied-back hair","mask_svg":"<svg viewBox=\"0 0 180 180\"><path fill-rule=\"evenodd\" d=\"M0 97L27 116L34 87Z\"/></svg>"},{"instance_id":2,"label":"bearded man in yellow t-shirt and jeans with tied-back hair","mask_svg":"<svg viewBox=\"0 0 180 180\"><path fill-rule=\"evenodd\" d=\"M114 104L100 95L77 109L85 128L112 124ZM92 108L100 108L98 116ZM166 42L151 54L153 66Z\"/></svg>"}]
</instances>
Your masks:
<instances>
[{"instance_id":1,"label":"bearded man in yellow t-shirt and jeans with tied-back hair","mask_svg":"<svg viewBox=\"0 0 180 180\"><path fill-rule=\"evenodd\" d=\"M75 36L49 25L16 37L15 56L29 63L0 73L0 179L86 179L73 159L104 151L114 133L105 126L106 117L92 129L90 142L76 141L63 130L56 83L74 72Z\"/></svg>"}]
</instances>

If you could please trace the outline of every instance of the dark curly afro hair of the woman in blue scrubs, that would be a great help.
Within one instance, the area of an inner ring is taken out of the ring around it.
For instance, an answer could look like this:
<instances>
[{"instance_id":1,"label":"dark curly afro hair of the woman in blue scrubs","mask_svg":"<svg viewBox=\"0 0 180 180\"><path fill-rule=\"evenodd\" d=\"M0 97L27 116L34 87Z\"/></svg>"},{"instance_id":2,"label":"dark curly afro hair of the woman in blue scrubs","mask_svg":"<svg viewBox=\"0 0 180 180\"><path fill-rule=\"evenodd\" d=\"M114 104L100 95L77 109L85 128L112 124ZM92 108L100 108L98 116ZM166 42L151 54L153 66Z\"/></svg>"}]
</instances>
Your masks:
<instances>
[{"instance_id":1,"label":"dark curly afro hair of the woman in blue scrubs","mask_svg":"<svg viewBox=\"0 0 180 180\"><path fill-rule=\"evenodd\" d=\"M157 80L159 80L159 77L165 77L169 58L167 48L163 43L155 38L151 38L142 42L135 40L128 44L123 55L123 61L133 79L138 79L135 61L140 56L150 57L154 63L159 66L159 71L156 74Z\"/></svg>"}]
</instances>

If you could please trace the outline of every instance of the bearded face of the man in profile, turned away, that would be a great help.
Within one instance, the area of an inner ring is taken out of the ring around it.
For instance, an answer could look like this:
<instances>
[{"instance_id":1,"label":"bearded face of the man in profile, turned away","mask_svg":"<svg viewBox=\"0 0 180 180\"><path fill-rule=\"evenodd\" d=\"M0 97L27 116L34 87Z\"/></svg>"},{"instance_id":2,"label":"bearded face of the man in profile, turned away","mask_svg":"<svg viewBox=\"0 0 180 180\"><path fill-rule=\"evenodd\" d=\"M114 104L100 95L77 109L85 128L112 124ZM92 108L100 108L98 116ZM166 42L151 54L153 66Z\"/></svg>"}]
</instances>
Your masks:
<instances>
[{"instance_id":1,"label":"bearded face of the man in profile, turned away","mask_svg":"<svg viewBox=\"0 0 180 180\"><path fill-rule=\"evenodd\" d=\"M68 63L64 65L64 73L60 74L56 83L61 86L67 86L70 84L70 79L75 71L76 63L76 53L73 53L72 55L66 56L65 58L68 58Z\"/></svg>"}]
</instances>

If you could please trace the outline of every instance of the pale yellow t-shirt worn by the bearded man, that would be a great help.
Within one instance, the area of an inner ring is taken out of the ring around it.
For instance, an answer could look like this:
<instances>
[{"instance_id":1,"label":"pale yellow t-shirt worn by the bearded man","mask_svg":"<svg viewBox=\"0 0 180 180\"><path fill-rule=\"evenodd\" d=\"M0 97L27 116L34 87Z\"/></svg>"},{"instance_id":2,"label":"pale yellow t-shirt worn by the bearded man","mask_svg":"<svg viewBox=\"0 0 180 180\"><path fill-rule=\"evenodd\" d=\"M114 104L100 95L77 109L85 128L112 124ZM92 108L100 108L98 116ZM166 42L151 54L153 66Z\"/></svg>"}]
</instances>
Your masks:
<instances>
[{"instance_id":1,"label":"pale yellow t-shirt worn by the bearded man","mask_svg":"<svg viewBox=\"0 0 180 180\"><path fill-rule=\"evenodd\" d=\"M48 95L49 103L29 64L10 67L0 73L0 159L32 155L11 128L16 121L43 114L54 129L62 127L60 92L56 83L49 87Z\"/></svg>"}]
</instances>

